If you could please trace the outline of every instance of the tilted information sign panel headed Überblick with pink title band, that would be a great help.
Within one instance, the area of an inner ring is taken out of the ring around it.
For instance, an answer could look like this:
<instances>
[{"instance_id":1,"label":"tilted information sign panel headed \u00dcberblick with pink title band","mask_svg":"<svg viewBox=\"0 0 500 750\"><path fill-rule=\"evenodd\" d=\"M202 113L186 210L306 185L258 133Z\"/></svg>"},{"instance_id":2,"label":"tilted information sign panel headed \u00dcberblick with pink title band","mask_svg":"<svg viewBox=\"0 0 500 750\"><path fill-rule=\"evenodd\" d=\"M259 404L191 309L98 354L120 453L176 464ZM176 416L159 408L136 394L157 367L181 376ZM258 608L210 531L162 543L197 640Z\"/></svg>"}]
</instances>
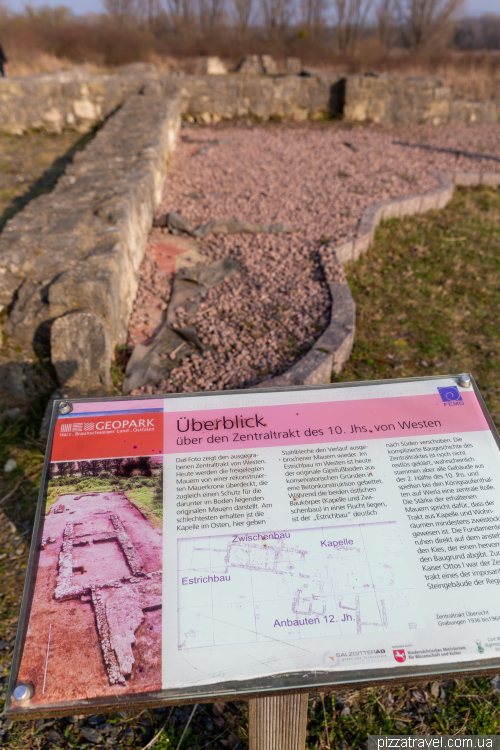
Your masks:
<instances>
[{"instance_id":1,"label":"tilted information sign panel headed \u00dcberblick with pink title band","mask_svg":"<svg viewBox=\"0 0 500 750\"><path fill-rule=\"evenodd\" d=\"M11 715L498 669L500 452L474 384L72 407Z\"/></svg>"}]
</instances>

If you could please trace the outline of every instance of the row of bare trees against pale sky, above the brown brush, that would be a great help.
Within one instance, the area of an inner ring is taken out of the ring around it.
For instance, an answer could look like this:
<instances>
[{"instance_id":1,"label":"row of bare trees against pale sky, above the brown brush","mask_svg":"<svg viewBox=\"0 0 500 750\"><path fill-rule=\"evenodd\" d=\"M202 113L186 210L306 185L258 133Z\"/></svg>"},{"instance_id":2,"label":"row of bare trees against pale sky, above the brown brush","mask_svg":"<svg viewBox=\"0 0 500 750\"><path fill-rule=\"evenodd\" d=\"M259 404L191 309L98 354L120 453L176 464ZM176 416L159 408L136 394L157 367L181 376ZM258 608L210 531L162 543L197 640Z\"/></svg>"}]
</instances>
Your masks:
<instances>
[{"instance_id":1,"label":"row of bare trees against pale sky, above the brown brush","mask_svg":"<svg viewBox=\"0 0 500 750\"><path fill-rule=\"evenodd\" d=\"M500 16L460 19L464 0L103 0L110 18L153 34L207 34L231 27L242 40L260 34L330 39L339 52L366 35L386 48L421 49L452 43L500 49Z\"/></svg>"}]
</instances>

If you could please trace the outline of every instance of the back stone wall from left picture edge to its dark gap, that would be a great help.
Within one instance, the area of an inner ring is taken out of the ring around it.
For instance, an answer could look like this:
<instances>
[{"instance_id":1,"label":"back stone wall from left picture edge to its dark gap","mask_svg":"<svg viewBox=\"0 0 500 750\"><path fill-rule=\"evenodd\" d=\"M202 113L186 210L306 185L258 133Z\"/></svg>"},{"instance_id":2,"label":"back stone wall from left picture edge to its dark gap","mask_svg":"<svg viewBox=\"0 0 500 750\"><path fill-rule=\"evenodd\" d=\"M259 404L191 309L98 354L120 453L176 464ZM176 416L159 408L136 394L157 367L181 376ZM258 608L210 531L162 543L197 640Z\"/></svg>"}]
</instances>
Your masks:
<instances>
[{"instance_id":1,"label":"back stone wall from left picture edge to its dark gap","mask_svg":"<svg viewBox=\"0 0 500 750\"><path fill-rule=\"evenodd\" d=\"M301 76L165 76L153 66L125 66L112 75L74 69L0 81L0 128L88 132L126 98L143 90L171 96L179 91L182 112L198 122L253 116L302 121L340 116L344 78L318 73Z\"/></svg>"}]
</instances>

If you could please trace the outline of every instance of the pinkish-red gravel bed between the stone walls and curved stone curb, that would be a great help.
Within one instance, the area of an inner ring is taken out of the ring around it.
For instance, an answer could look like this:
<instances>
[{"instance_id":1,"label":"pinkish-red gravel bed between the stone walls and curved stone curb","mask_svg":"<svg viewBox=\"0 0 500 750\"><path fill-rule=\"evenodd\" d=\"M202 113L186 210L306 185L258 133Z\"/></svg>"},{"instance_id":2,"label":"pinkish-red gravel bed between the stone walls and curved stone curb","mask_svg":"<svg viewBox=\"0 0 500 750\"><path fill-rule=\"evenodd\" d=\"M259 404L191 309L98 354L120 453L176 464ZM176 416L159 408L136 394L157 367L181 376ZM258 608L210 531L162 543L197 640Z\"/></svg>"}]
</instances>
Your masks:
<instances>
[{"instance_id":1,"label":"pinkish-red gravel bed between the stone walls and curved stone curb","mask_svg":"<svg viewBox=\"0 0 500 750\"><path fill-rule=\"evenodd\" d=\"M214 144L214 141L218 143ZM426 144L485 158L398 145ZM494 156L495 159L486 158ZM285 235L232 235L201 242L210 258L235 258L241 273L212 289L196 326L212 350L185 358L168 380L137 393L218 390L251 386L288 368L328 323L329 275L342 280L327 242L356 229L363 209L377 201L432 189L432 171L500 171L500 129L428 126L382 129L303 126L185 128L158 213L177 211L193 224L231 218L285 222ZM166 230L153 230L153 242ZM143 317L147 298L163 309L169 290L156 282L152 254L141 268L131 329L153 328Z\"/></svg>"}]
</instances>

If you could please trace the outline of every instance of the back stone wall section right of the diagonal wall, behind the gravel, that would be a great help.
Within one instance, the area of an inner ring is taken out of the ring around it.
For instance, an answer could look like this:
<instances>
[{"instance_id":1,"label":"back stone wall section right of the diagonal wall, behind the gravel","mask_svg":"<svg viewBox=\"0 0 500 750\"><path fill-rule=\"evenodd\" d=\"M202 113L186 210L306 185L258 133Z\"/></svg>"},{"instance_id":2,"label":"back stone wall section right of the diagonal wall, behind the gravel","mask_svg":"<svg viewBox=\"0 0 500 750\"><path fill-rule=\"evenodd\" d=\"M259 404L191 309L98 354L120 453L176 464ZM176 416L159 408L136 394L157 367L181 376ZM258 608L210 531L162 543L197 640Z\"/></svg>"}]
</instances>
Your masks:
<instances>
[{"instance_id":1,"label":"back stone wall section right of the diagonal wall, behind the gravel","mask_svg":"<svg viewBox=\"0 0 500 750\"><path fill-rule=\"evenodd\" d=\"M435 76L186 76L178 78L183 113L197 122L340 117L387 124L497 123L500 102L452 99Z\"/></svg>"}]
</instances>

